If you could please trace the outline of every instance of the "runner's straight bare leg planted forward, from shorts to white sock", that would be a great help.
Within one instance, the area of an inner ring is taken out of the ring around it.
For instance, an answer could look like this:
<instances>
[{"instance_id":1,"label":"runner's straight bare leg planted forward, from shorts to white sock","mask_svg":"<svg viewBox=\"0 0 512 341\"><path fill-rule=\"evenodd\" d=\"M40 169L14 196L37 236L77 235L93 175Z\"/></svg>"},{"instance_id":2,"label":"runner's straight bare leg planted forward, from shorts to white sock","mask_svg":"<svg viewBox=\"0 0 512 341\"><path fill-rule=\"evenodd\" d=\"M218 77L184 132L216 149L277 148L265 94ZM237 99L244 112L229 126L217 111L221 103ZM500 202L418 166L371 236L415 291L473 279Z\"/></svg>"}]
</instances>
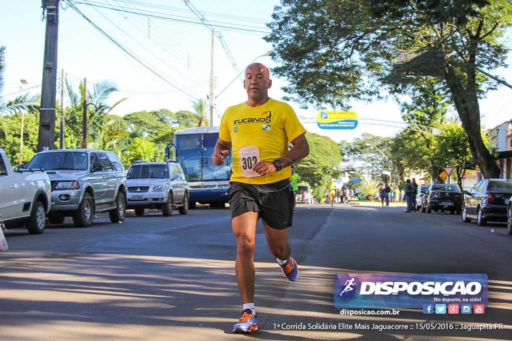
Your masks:
<instances>
[{"instance_id":1,"label":"runner's straight bare leg planted forward, from shorts to white sock","mask_svg":"<svg viewBox=\"0 0 512 341\"><path fill-rule=\"evenodd\" d=\"M246 212L231 220L237 239L237 260L234 271L243 303L254 302L254 247L258 212Z\"/></svg>"}]
</instances>

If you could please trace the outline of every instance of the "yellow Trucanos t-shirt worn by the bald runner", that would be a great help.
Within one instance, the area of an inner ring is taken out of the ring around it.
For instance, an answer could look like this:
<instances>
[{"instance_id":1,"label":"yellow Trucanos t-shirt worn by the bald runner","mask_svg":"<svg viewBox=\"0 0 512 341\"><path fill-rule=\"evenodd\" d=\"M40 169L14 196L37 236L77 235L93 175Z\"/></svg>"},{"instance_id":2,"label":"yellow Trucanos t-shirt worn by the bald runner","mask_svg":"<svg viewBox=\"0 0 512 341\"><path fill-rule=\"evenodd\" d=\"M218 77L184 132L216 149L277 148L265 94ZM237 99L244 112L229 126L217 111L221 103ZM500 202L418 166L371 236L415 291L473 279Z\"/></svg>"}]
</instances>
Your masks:
<instances>
[{"instance_id":1,"label":"yellow Trucanos t-shirt worn by the bald runner","mask_svg":"<svg viewBox=\"0 0 512 341\"><path fill-rule=\"evenodd\" d=\"M257 146L260 160L272 162L286 155L288 142L305 132L293 109L284 102L270 98L265 104L254 108L246 102L227 108L222 116L219 137L232 145L233 174L230 181L263 185L289 179L290 167L264 176L244 177L242 167L252 167L253 164L250 159L243 160L241 167L240 148Z\"/></svg>"}]
</instances>

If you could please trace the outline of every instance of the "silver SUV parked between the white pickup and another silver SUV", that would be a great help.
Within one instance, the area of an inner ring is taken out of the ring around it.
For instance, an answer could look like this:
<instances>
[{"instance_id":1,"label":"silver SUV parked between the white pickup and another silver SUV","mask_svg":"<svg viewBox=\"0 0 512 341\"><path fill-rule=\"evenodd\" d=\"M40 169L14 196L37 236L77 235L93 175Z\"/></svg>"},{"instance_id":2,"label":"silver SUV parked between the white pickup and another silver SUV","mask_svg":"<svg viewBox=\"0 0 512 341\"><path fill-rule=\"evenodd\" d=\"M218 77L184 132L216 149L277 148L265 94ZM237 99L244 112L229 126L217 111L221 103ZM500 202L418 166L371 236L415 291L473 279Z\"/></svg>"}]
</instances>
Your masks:
<instances>
[{"instance_id":1,"label":"silver SUV parked between the white pickup and another silver SUV","mask_svg":"<svg viewBox=\"0 0 512 341\"><path fill-rule=\"evenodd\" d=\"M92 224L95 212L109 212L113 223L126 212L124 167L111 151L55 149L34 155L27 168L42 168L50 177L52 206L48 219L59 224L71 216L77 227Z\"/></svg>"}]
</instances>

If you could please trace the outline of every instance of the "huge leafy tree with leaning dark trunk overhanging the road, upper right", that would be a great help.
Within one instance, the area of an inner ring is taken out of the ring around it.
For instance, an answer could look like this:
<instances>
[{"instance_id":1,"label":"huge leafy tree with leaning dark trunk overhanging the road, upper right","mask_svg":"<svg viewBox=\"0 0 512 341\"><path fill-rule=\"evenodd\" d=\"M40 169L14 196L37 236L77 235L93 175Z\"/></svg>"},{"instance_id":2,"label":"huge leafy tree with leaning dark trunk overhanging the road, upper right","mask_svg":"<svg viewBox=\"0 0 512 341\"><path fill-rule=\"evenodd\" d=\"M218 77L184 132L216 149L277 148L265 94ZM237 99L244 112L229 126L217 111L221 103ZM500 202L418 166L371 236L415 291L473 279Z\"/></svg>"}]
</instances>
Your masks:
<instances>
[{"instance_id":1,"label":"huge leafy tree with leaning dark trunk overhanging the road, upper right","mask_svg":"<svg viewBox=\"0 0 512 341\"><path fill-rule=\"evenodd\" d=\"M282 0L265 37L284 90L303 106L348 108L349 100L382 98L396 51L444 51L439 81L450 96L485 177L499 167L480 134L478 100L497 82L477 73L506 66L498 42L512 25L502 0Z\"/></svg>"}]
</instances>

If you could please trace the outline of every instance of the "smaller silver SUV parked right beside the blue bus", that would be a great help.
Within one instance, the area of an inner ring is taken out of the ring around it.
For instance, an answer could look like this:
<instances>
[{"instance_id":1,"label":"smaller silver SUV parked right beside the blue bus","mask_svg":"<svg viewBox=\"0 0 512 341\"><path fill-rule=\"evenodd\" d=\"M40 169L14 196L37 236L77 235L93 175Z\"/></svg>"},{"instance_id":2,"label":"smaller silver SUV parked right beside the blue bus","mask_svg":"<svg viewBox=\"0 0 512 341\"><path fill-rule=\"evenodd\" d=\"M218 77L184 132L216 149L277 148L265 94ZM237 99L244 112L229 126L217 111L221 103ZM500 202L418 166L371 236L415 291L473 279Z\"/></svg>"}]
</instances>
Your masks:
<instances>
[{"instance_id":1,"label":"smaller silver SUV parked right beside the blue bus","mask_svg":"<svg viewBox=\"0 0 512 341\"><path fill-rule=\"evenodd\" d=\"M178 207L188 213L188 186L181 165L167 162L136 161L126 174L127 208L142 216L145 209L159 209L165 217Z\"/></svg>"}]
</instances>

